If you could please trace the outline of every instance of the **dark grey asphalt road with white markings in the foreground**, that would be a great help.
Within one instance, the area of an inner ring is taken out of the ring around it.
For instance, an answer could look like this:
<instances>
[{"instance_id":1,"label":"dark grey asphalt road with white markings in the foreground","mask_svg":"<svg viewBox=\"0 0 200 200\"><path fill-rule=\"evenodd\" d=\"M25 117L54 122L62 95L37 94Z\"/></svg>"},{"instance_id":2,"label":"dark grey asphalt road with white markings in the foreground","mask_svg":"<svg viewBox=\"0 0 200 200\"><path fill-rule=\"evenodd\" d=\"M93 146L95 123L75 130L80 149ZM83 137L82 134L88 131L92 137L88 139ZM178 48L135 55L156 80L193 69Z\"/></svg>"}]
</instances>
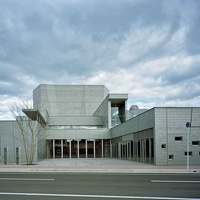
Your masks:
<instances>
[{"instance_id":1,"label":"dark grey asphalt road with white markings in the foreground","mask_svg":"<svg viewBox=\"0 0 200 200\"><path fill-rule=\"evenodd\" d=\"M0 199L200 199L200 174L0 173Z\"/></svg>"}]
</instances>

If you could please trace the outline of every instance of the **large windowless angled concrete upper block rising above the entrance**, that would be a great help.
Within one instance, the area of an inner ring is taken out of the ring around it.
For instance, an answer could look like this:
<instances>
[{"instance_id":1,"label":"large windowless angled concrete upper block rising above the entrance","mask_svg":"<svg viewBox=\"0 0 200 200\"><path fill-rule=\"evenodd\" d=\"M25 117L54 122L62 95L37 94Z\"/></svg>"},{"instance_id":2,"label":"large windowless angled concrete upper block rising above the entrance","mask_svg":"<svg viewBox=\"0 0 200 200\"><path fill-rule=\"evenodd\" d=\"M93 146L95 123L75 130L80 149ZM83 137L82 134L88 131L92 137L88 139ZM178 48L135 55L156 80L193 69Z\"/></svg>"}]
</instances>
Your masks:
<instances>
[{"instance_id":1,"label":"large windowless angled concrete upper block rising above the entrance","mask_svg":"<svg viewBox=\"0 0 200 200\"><path fill-rule=\"evenodd\" d=\"M92 116L107 95L103 85L42 84L33 91L33 103L50 116Z\"/></svg>"}]
</instances>

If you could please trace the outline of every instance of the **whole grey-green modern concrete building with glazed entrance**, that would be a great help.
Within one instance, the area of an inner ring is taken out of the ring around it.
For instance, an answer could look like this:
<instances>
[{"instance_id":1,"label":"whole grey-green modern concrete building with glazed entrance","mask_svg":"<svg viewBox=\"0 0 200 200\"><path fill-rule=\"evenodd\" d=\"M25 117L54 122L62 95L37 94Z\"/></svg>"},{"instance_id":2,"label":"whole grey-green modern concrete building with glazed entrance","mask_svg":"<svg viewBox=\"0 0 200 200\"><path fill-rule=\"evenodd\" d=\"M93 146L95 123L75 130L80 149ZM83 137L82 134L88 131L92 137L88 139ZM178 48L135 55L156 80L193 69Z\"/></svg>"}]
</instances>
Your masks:
<instances>
[{"instance_id":1,"label":"whole grey-green modern concrete building with glazed entrance","mask_svg":"<svg viewBox=\"0 0 200 200\"><path fill-rule=\"evenodd\" d=\"M117 158L185 165L189 147L190 164L200 164L199 107L141 110L134 105L128 110L127 100L128 94L110 94L103 85L39 85L33 91L33 109L23 109L42 126L34 161ZM15 121L0 121L1 162L5 147L9 162L16 162L17 147L25 161L17 129Z\"/></svg>"}]
</instances>

